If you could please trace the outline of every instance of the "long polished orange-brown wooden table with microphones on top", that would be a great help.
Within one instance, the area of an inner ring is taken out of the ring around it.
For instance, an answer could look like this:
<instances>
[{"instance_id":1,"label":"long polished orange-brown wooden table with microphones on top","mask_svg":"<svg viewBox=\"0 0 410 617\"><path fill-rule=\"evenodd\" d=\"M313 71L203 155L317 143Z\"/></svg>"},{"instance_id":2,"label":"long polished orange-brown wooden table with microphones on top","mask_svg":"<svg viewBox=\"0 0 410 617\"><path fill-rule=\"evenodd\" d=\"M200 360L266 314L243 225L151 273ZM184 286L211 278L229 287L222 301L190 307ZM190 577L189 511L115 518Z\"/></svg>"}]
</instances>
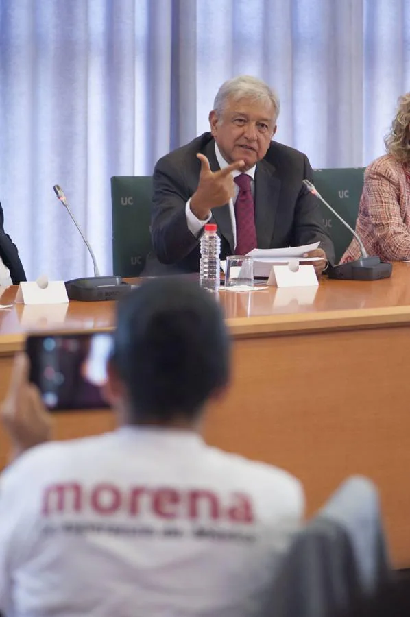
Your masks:
<instances>
[{"instance_id":1,"label":"long polished orange-brown wooden table with microphones on top","mask_svg":"<svg viewBox=\"0 0 410 617\"><path fill-rule=\"evenodd\" d=\"M410 264L394 265L388 280L325 278L314 298L309 292L219 294L234 337L232 386L210 409L206 439L298 476L309 514L349 474L370 476L394 562L409 567ZM10 288L1 302L14 294ZM25 331L55 322L108 328L113 316L111 302L0 311L0 398ZM64 413L56 436L112 426L108 411ZM0 465L5 448L0 433Z\"/></svg>"}]
</instances>

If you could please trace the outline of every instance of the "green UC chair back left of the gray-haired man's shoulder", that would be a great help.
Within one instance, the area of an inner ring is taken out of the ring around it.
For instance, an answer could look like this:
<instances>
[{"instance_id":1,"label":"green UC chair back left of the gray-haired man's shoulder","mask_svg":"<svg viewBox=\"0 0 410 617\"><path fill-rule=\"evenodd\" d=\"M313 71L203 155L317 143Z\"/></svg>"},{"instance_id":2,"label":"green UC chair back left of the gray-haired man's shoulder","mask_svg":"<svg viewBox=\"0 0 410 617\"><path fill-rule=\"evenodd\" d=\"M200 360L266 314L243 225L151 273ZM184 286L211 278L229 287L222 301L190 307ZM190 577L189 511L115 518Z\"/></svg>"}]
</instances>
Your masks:
<instances>
[{"instance_id":1,"label":"green UC chair back left of the gray-haired man's shoulder","mask_svg":"<svg viewBox=\"0 0 410 617\"><path fill-rule=\"evenodd\" d=\"M139 276L152 250L152 176L112 176L112 271Z\"/></svg>"}]
</instances>

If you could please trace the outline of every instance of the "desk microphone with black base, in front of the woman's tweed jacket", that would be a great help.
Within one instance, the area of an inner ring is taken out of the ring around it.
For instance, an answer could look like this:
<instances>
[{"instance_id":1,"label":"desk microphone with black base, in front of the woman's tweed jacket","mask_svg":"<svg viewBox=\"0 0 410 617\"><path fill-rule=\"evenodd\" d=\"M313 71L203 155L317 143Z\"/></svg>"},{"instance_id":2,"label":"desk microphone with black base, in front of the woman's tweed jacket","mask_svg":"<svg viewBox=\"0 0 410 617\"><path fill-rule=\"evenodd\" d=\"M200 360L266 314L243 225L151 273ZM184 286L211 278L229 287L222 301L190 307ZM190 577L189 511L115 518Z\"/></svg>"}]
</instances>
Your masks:
<instances>
[{"instance_id":1,"label":"desk microphone with black base, in front of the woman's tweed jacket","mask_svg":"<svg viewBox=\"0 0 410 617\"><path fill-rule=\"evenodd\" d=\"M369 257L363 246L363 242L357 235L357 233L350 227L348 223L326 202L326 200L320 195L316 187L309 182L309 180L303 180L304 186L308 189L309 193L312 193L322 204L330 210L348 228L353 234L354 238L359 243L361 258L355 261L349 261L347 263L341 263L337 266L329 265L328 277L329 278L341 278L343 280L378 280L380 278L389 278L391 276L391 263L384 263L380 261L377 256Z\"/></svg>"}]
</instances>

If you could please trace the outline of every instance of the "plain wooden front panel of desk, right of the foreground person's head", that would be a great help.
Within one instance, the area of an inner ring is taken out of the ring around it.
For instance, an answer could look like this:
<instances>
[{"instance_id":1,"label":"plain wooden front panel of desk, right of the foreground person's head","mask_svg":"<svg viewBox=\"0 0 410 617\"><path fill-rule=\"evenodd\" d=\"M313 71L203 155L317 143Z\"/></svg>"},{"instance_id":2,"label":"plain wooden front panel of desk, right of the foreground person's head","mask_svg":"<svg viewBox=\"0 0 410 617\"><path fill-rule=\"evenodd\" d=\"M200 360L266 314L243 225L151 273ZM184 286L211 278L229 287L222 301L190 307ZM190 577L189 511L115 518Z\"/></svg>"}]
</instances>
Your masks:
<instances>
[{"instance_id":1,"label":"plain wooden front panel of desk, right of the foreground person's head","mask_svg":"<svg viewBox=\"0 0 410 617\"><path fill-rule=\"evenodd\" d=\"M409 567L409 353L410 326L238 340L206 439L298 476L309 515L346 476L369 476L395 562Z\"/></svg>"}]
</instances>

